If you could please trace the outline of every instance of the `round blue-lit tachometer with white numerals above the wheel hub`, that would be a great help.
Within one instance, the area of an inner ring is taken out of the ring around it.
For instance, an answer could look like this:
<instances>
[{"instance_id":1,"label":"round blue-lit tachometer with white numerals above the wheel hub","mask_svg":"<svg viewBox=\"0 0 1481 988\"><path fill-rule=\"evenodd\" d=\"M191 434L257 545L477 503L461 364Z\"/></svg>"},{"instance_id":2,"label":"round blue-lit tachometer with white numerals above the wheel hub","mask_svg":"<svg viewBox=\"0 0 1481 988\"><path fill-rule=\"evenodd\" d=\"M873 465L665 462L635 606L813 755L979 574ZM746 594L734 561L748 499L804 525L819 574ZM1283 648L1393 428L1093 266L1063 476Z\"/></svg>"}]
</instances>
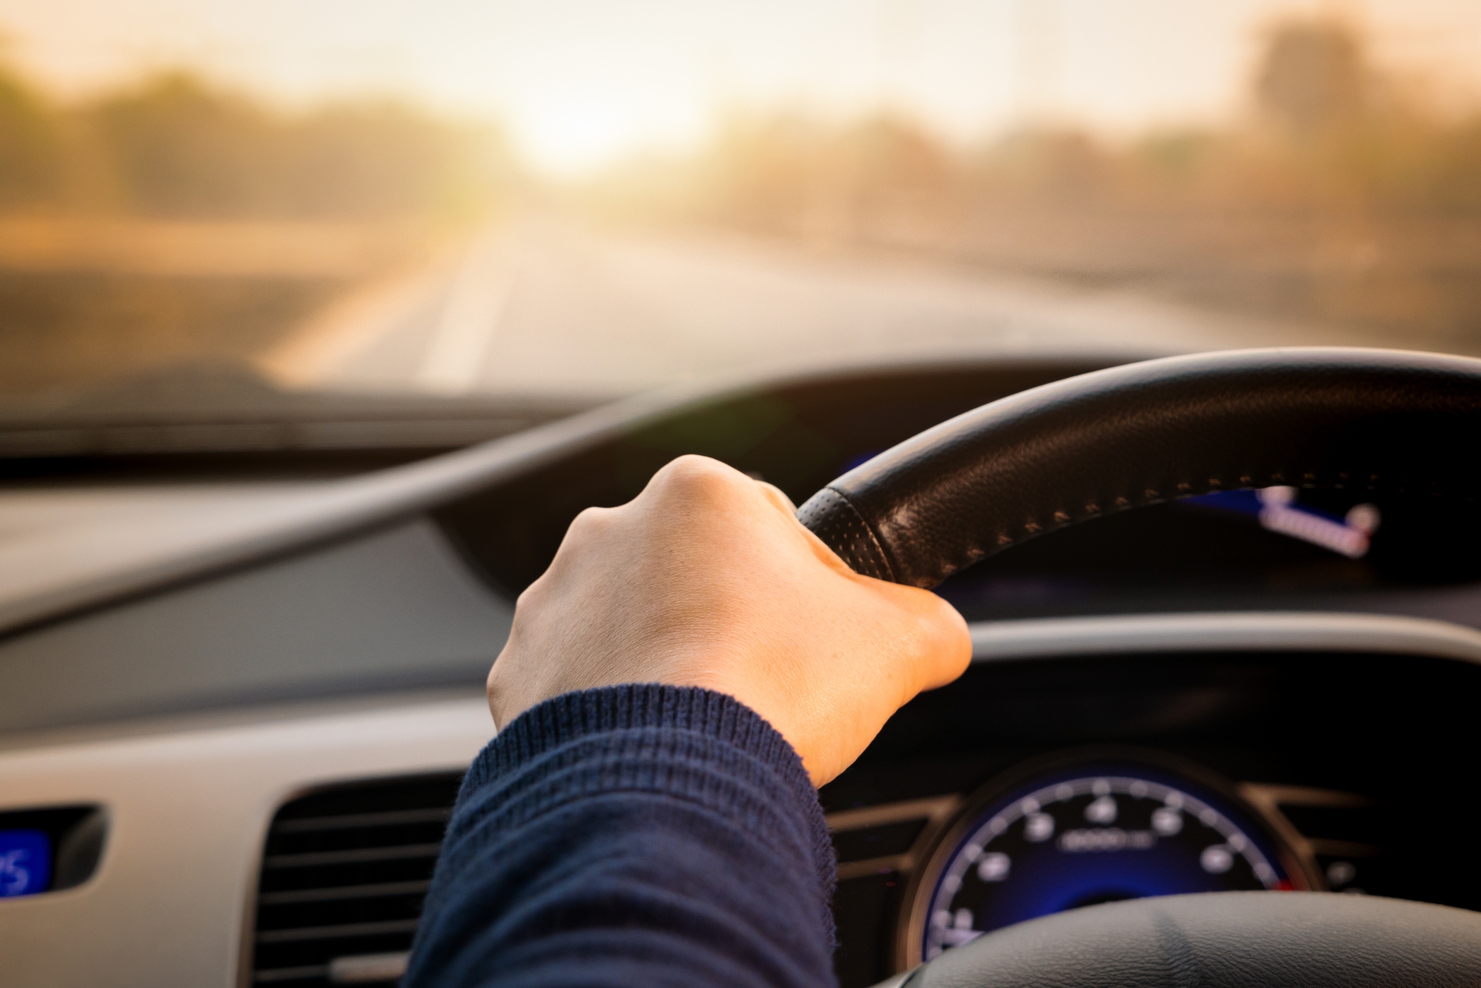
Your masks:
<instances>
[{"instance_id":1,"label":"round blue-lit tachometer with white numerals above the wheel hub","mask_svg":"<svg viewBox=\"0 0 1481 988\"><path fill-rule=\"evenodd\" d=\"M909 963L989 930L1099 902L1309 887L1232 797L1148 766L1038 775L976 803L923 872Z\"/></svg>"}]
</instances>

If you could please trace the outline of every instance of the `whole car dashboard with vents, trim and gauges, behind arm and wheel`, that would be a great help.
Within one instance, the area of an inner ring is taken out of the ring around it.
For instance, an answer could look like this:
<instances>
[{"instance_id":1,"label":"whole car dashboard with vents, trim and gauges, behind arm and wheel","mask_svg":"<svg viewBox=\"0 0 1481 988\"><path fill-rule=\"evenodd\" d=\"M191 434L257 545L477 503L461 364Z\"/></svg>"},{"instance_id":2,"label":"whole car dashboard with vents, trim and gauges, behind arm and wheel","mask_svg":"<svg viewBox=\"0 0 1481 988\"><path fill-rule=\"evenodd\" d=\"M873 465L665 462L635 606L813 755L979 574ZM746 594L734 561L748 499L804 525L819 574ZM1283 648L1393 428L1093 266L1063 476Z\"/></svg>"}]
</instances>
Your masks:
<instances>
[{"instance_id":1,"label":"whole car dashboard with vents, trim and gauges, behind arm and wheel","mask_svg":"<svg viewBox=\"0 0 1481 988\"><path fill-rule=\"evenodd\" d=\"M0 539L6 979L394 984L493 733L481 683L512 600L581 508L686 452L800 502L921 428L1097 366L835 369L338 478L0 490L10 530L37 505L52 518ZM820 791L844 988L1118 898L1481 908L1474 513L1253 498L1054 532L940 588L972 668Z\"/></svg>"}]
</instances>

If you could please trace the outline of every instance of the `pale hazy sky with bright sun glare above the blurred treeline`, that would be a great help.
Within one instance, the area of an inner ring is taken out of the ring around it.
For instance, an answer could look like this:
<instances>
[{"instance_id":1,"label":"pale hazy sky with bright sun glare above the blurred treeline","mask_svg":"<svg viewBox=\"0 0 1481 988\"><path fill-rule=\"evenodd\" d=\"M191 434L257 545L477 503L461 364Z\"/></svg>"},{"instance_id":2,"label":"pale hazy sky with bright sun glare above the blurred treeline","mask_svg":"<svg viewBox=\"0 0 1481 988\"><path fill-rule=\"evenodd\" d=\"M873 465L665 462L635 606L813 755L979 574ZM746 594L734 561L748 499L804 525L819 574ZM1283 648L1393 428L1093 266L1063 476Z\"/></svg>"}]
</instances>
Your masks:
<instances>
[{"instance_id":1,"label":"pale hazy sky with bright sun glare above the blurred treeline","mask_svg":"<svg viewBox=\"0 0 1481 988\"><path fill-rule=\"evenodd\" d=\"M289 105L397 95L499 120L579 175L736 108L883 107L963 141L1229 119L1291 12L1355 19L1385 64L1481 92L1478 0L0 0L0 36L70 96L182 65Z\"/></svg>"}]
</instances>

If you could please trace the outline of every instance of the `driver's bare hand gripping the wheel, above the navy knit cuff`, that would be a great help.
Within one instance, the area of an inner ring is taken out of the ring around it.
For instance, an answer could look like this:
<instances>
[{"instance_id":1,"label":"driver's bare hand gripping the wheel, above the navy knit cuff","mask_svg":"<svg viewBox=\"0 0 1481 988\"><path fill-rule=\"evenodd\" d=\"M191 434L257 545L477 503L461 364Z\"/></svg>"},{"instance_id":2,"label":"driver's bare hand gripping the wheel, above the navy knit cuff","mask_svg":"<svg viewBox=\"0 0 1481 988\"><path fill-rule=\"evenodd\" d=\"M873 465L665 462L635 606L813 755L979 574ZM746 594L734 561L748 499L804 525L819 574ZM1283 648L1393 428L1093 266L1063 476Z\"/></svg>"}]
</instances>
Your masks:
<instances>
[{"instance_id":1,"label":"driver's bare hand gripping the wheel, above the navy knit cuff","mask_svg":"<svg viewBox=\"0 0 1481 988\"><path fill-rule=\"evenodd\" d=\"M634 501L572 521L520 594L489 710L508 724L572 690L703 686L764 717L822 785L970 659L967 624L945 600L859 576L780 490L681 456Z\"/></svg>"}]
</instances>

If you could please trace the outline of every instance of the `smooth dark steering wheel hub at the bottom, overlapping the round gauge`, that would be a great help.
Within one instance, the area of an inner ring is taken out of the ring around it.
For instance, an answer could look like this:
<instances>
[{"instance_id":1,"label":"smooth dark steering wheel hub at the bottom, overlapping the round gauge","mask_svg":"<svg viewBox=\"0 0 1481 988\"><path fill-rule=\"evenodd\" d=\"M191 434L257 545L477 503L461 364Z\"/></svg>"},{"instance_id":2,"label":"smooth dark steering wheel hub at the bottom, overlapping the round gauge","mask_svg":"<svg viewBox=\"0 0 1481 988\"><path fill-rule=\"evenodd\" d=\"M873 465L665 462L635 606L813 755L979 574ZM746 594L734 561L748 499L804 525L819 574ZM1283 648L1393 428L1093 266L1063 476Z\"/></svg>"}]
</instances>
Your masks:
<instances>
[{"instance_id":1,"label":"smooth dark steering wheel hub at the bottom, overlapping the round gauge","mask_svg":"<svg viewBox=\"0 0 1481 988\"><path fill-rule=\"evenodd\" d=\"M1206 892L1009 926L900 988L1459 988L1481 984L1481 915L1330 892Z\"/></svg>"}]
</instances>

